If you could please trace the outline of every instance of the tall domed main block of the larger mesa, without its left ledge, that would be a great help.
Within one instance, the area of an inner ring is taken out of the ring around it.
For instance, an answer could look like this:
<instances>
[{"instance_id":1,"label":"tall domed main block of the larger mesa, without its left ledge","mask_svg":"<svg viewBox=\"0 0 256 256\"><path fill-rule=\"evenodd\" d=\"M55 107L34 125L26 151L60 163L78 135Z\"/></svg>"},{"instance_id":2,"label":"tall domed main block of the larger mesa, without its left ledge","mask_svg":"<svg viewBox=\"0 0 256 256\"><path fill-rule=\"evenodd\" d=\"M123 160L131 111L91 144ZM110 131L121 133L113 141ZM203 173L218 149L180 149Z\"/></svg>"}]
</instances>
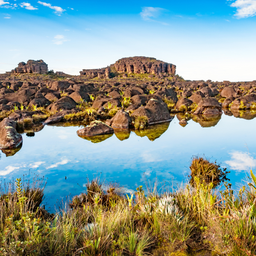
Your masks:
<instances>
[{"instance_id":1,"label":"tall domed main block of the larger mesa, without its left ledge","mask_svg":"<svg viewBox=\"0 0 256 256\"><path fill-rule=\"evenodd\" d=\"M111 66L114 66L118 73L127 72L128 74L175 74L176 72L176 66L173 64L157 60L156 58L142 56L122 58Z\"/></svg>"}]
</instances>

